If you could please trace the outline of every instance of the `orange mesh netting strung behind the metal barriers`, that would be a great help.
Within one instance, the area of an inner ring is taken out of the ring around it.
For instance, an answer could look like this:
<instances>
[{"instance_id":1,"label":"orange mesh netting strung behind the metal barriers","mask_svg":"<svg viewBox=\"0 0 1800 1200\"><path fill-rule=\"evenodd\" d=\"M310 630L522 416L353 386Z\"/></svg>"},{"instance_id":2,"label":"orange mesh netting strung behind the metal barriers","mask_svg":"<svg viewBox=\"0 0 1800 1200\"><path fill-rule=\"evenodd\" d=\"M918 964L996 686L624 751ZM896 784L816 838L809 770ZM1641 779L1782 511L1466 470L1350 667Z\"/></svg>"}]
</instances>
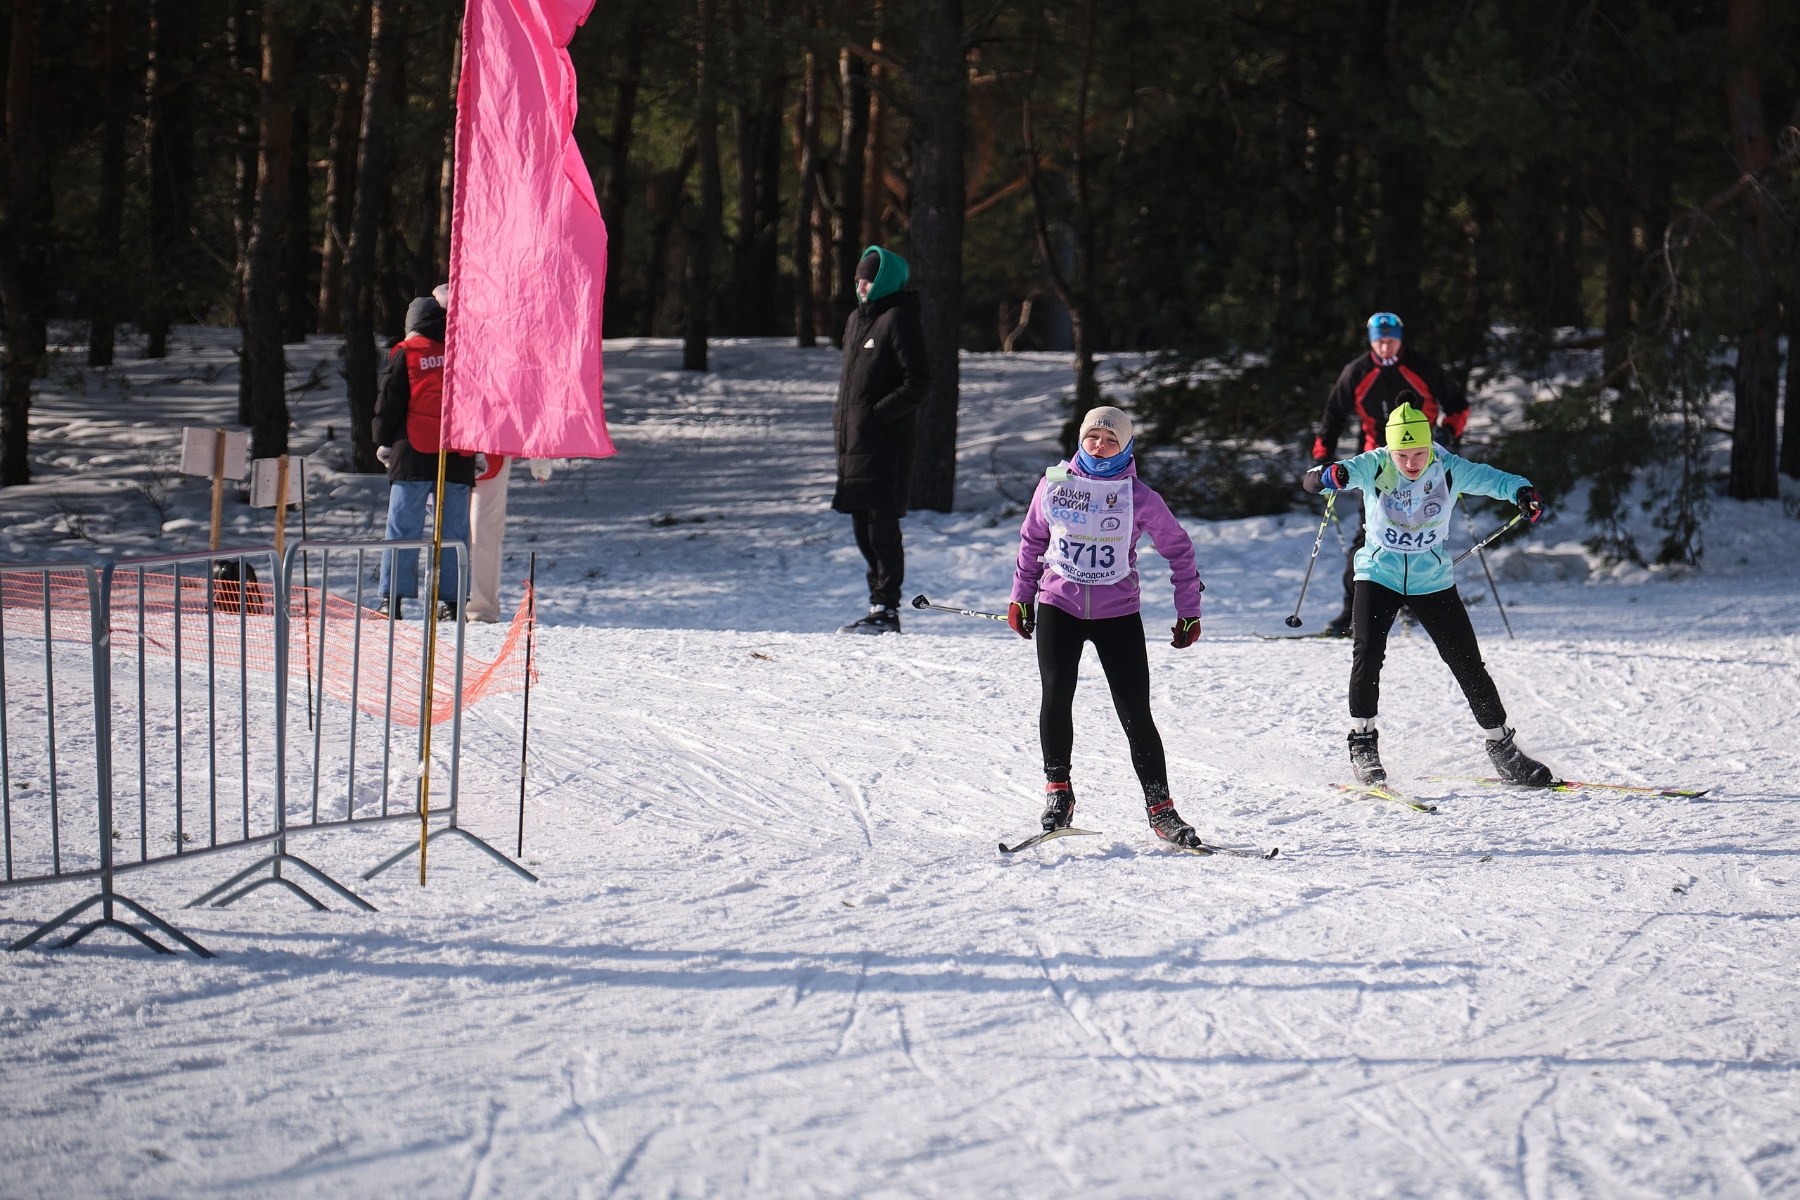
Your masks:
<instances>
[{"instance_id":1,"label":"orange mesh netting strung behind the metal barriers","mask_svg":"<svg viewBox=\"0 0 1800 1200\"><path fill-rule=\"evenodd\" d=\"M193 567L191 563L187 567ZM275 622L272 588L250 583L239 604L232 579L212 581L173 569L113 574L110 631L119 653L176 658L185 666L274 675ZM463 705L526 685L524 649L531 624L529 585L491 662L463 658ZM319 588L293 588L288 597L288 676L311 678L320 694L355 703L371 716L418 723L425 678L425 622L387 621L355 601ZM81 570L0 569L0 622L14 637L65 642L94 640L88 578ZM392 655L392 657L389 657ZM432 723L455 712L455 626L441 624L432 680ZM392 669L389 669L392 662ZM533 667L533 675L536 669Z\"/></svg>"}]
</instances>

